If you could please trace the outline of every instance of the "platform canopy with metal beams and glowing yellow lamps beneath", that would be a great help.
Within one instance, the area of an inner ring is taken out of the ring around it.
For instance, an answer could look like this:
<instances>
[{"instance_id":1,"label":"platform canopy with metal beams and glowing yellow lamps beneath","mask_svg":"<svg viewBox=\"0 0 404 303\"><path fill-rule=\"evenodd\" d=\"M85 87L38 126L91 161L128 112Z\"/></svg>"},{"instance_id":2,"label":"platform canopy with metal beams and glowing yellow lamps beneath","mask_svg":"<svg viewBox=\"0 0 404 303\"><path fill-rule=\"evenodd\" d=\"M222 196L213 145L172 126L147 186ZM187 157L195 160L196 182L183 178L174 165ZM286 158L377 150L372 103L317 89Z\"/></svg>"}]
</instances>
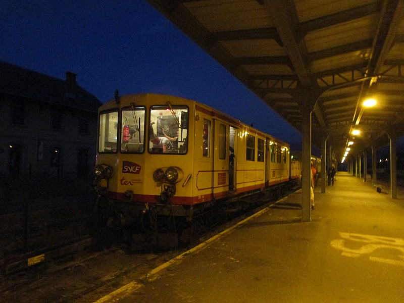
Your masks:
<instances>
[{"instance_id":1,"label":"platform canopy with metal beams and glowing yellow lamps beneath","mask_svg":"<svg viewBox=\"0 0 404 303\"><path fill-rule=\"evenodd\" d=\"M404 135L404 0L147 1L337 160Z\"/></svg>"}]
</instances>

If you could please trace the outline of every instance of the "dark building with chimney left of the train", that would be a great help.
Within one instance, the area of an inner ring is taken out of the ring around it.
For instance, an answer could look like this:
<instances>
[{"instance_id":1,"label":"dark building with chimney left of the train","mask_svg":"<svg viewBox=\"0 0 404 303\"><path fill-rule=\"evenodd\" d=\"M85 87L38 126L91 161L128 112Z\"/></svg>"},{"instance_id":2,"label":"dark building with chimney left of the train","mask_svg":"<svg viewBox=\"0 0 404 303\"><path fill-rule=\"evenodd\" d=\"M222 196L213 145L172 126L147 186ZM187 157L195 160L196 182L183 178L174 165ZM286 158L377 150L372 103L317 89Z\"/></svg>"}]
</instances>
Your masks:
<instances>
[{"instance_id":1,"label":"dark building with chimney left of the train","mask_svg":"<svg viewBox=\"0 0 404 303\"><path fill-rule=\"evenodd\" d=\"M76 83L0 61L0 180L86 177L99 100Z\"/></svg>"}]
</instances>

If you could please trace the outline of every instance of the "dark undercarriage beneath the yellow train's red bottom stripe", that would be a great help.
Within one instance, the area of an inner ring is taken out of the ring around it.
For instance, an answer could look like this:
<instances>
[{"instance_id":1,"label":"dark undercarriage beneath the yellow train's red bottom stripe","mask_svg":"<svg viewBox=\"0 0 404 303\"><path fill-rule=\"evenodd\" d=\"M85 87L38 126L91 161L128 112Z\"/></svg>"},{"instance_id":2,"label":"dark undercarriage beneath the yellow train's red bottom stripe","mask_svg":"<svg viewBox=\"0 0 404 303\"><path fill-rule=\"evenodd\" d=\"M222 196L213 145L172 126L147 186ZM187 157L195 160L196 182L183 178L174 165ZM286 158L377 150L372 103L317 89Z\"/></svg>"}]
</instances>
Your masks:
<instances>
[{"instance_id":1,"label":"dark undercarriage beneath the yellow train's red bottom stripe","mask_svg":"<svg viewBox=\"0 0 404 303\"><path fill-rule=\"evenodd\" d=\"M159 204L112 200L97 192L94 214L102 246L123 245L128 250L167 250L198 244L199 238L240 216L254 212L295 191L294 180L236 197L194 206L172 205L165 196Z\"/></svg>"}]
</instances>

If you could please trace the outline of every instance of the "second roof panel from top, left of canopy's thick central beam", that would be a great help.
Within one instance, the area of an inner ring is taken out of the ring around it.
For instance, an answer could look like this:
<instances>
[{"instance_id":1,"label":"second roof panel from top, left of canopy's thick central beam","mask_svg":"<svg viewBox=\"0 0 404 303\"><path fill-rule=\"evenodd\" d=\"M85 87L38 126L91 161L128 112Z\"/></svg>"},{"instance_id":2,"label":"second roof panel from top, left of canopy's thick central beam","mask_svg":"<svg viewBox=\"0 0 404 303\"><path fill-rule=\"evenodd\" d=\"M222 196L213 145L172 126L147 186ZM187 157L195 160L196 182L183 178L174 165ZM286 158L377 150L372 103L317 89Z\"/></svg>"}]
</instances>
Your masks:
<instances>
[{"instance_id":1,"label":"second roof panel from top, left of canopy's thick central beam","mask_svg":"<svg viewBox=\"0 0 404 303\"><path fill-rule=\"evenodd\" d=\"M286 56L284 47L272 39L221 41L233 57Z\"/></svg>"}]
</instances>

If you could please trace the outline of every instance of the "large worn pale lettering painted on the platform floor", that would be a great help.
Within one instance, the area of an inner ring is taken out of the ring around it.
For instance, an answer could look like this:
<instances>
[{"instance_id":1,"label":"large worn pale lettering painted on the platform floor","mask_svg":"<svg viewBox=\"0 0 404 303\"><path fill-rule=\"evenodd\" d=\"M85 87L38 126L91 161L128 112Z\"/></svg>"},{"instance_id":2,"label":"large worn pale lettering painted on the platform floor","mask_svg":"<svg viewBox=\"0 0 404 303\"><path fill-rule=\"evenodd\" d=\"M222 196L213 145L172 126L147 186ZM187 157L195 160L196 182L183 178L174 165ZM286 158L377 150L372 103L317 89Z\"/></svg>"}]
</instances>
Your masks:
<instances>
[{"instance_id":1,"label":"large worn pale lettering painted on the platform floor","mask_svg":"<svg viewBox=\"0 0 404 303\"><path fill-rule=\"evenodd\" d=\"M342 239L332 240L331 246L342 250L342 256L358 258L362 255L369 255L370 261L404 266L404 239L346 232L340 232L339 235ZM355 242L362 242L364 244L358 249L346 247L349 244L355 244ZM376 249L392 249L394 252L397 252L396 259L372 256L372 253Z\"/></svg>"}]
</instances>

